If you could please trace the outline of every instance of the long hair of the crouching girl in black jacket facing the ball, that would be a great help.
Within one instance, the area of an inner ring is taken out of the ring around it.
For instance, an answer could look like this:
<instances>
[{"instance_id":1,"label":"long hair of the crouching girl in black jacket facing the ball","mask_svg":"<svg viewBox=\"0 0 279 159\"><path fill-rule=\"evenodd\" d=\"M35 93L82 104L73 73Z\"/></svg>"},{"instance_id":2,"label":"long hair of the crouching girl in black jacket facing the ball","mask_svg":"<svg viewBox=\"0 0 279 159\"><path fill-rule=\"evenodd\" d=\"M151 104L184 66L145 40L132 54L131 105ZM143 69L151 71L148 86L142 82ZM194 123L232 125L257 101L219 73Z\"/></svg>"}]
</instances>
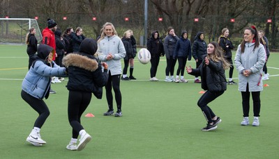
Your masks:
<instances>
[{"instance_id":1,"label":"long hair of the crouching girl in black jacket facing the ball","mask_svg":"<svg viewBox=\"0 0 279 159\"><path fill-rule=\"evenodd\" d=\"M207 57L215 62L217 61L222 61L223 63L223 68L224 69L229 69L231 65L223 56L223 51L221 50L221 47L217 42L209 42L209 44L212 44L214 46L214 52L212 54L207 54Z\"/></svg>"}]
</instances>

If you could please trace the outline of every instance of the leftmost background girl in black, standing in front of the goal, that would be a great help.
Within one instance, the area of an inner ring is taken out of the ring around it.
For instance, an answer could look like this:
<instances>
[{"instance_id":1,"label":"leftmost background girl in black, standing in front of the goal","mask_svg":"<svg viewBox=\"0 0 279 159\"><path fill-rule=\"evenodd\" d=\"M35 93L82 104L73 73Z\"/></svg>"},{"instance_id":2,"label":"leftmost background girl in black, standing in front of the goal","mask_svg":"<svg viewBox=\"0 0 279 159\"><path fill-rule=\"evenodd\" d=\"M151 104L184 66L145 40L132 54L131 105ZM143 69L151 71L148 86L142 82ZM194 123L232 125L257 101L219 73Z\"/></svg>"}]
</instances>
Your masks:
<instances>
[{"instance_id":1,"label":"leftmost background girl in black, standing in front of the goal","mask_svg":"<svg viewBox=\"0 0 279 159\"><path fill-rule=\"evenodd\" d=\"M29 65L28 69L30 69L33 60L35 60L34 55L37 52L37 45L38 45L38 40L35 37L36 34L36 29L31 27L29 29L29 33L27 34L27 54L29 56Z\"/></svg>"}]
</instances>

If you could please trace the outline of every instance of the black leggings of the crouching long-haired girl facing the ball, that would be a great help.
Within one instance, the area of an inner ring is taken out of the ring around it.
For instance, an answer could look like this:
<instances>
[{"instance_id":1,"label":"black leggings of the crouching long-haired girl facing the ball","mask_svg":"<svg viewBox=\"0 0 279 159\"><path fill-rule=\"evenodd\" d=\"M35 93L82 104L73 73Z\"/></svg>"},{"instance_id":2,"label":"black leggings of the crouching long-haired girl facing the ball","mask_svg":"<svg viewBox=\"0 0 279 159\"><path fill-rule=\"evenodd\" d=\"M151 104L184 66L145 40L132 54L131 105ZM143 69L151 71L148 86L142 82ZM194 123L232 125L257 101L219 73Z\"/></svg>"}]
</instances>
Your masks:
<instances>
[{"instance_id":1,"label":"black leggings of the crouching long-haired girl facing the ball","mask_svg":"<svg viewBox=\"0 0 279 159\"><path fill-rule=\"evenodd\" d=\"M202 94L202 97L200 97L199 101L197 101L197 106L201 108L202 113L204 114L204 117L206 118L206 121L210 124L212 123L212 118L216 115L214 112L207 106L208 103L222 95L225 91L222 92L210 92L209 90L206 91L204 94Z\"/></svg>"}]
</instances>

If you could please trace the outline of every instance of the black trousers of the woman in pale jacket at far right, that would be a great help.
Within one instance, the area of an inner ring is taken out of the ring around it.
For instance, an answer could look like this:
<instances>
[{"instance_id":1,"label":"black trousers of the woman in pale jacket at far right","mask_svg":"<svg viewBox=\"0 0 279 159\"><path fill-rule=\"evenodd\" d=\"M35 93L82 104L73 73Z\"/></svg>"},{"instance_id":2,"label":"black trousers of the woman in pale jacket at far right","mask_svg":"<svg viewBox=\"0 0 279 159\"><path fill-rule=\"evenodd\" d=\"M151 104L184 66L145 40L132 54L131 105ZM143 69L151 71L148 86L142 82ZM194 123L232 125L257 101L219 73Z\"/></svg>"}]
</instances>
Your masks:
<instances>
[{"instance_id":1,"label":"black trousers of the woman in pale jacket at far right","mask_svg":"<svg viewBox=\"0 0 279 159\"><path fill-rule=\"evenodd\" d=\"M252 101L253 101L253 111L254 117L259 117L259 112L261 110L261 99L260 92L251 92ZM242 109L243 109L243 117L249 117L250 110L250 92L247 84L246 92L241 92L242 96Z\"/></svg>"}]
</instances>

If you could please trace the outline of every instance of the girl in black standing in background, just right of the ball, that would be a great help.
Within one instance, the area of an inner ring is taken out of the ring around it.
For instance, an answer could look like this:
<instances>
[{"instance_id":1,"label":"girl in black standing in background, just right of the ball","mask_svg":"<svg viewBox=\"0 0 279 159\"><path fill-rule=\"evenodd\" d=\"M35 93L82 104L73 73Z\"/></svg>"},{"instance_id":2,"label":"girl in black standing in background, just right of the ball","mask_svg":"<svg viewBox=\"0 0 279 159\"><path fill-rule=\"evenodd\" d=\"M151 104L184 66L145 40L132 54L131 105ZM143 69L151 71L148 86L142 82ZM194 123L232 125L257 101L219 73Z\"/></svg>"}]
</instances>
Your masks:
<instances>
[{"instance_id":1,"label":"girl in black standing in background, just right of the ball","mask_svg":"<svg viewBox=\"0 0 279 159\"><path fill-rule=\"evenodd\" d=\"M164 56L164 46L158 31L153 31L151 38L147 41L147 49L151 54L151 69L150 69L150 81L158 81L156 78L157 68L160 62L160 56Z\"/></svg>"}]
</instances>

